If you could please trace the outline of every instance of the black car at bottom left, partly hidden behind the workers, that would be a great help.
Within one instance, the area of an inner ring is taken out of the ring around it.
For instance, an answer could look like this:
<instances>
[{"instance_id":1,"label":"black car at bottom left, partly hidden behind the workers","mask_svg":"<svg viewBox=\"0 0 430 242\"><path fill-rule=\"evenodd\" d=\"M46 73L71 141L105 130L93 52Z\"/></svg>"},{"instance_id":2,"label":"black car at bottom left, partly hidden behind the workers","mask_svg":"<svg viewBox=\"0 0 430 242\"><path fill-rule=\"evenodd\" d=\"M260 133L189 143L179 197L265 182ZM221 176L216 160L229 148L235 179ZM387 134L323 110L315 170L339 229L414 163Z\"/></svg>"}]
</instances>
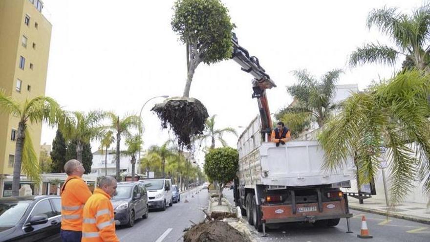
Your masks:
<instances>
[{"instance_id":1,"label":"black car at bottom left, partly hidden behind the workers","mask_svg":"<svg viewBox=\"0 0 430 242\"><path fill-rule=\"evenodd\" d=\"M0 198L0 242L61 242L61 198Z\"/></svg>"}]
</instances>

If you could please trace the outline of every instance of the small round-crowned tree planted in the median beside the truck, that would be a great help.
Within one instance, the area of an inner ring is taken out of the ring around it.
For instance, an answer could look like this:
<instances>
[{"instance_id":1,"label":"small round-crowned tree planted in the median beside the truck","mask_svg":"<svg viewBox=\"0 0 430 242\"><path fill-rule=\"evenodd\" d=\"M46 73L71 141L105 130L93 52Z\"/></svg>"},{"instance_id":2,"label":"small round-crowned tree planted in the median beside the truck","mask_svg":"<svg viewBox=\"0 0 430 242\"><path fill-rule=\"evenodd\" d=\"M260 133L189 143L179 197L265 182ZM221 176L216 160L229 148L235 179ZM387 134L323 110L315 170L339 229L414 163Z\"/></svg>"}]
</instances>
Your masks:
<instances>
[{"instance_id":1,"label":"small round-crowned tree planted in the median beside the truck","mask_svg":"<svg viewBox=\"0 0 430 242\"><path fill-rule=\"evenodd\" d=\"M231 147L216 148L205 155L203 166L206 176L217 183L218 205L221 205L224 185L236 177L239 168L239 153Z\"/></svg>"}]
</instances>

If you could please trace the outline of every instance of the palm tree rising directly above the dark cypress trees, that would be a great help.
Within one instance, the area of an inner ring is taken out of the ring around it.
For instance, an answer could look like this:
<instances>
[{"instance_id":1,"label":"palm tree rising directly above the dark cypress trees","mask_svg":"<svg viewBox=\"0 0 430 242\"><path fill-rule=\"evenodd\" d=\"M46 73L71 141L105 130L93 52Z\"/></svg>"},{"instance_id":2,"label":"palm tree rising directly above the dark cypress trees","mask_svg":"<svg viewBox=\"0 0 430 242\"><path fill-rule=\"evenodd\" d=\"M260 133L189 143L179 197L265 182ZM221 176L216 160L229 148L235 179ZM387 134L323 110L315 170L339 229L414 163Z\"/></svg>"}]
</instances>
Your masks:
<instances>
[{"instance_id":1,"label":"palm tree rising directly above the dark cypress trees","mask_svg":"<svg viewBox=\"0 0 430 242\"><path fill-rule=\"evenodd\" d=\"M105 127L99 123L105 118L106 113L101 110L89 111L88 113L71 112L72 125L62 130L64 138L76 141L76 159L82 162L82 151L84 144L101 138Z\"/></svg>"}]
</instances>

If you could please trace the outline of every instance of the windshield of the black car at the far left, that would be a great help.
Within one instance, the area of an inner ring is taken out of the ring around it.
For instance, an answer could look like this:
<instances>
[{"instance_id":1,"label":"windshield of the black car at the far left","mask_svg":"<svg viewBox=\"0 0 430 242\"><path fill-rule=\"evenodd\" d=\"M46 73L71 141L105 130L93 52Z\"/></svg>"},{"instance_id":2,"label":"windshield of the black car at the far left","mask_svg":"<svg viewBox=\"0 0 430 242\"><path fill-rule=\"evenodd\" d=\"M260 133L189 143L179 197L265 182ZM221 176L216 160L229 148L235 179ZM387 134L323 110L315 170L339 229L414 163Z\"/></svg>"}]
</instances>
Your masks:
<instances>
[{"instance_id":1,"label":"windshield of the black car at the far left","mask_svg":"<svg viewBox=\"0 0 430 242\"><path fill-rule=\"evenodd\" d=\"M31 201L0 203L0 227L12 227L21 220Z\"/></svg>"}]
</instances>

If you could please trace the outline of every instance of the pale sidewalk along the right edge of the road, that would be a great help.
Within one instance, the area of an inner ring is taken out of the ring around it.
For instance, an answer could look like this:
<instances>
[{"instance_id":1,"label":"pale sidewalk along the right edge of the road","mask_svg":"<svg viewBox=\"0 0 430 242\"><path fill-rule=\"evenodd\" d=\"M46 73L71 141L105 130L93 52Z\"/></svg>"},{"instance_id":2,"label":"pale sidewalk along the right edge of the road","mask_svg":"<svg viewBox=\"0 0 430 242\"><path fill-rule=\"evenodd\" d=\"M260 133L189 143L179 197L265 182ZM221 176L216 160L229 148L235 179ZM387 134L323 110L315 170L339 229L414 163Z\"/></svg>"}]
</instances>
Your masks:
<instances>
[{"instance_id":1,"label":"pale sidewalk along the right edge of the road","mask_svg":"<svg viewBox=\"0 0 430 242\"><path fill-rule=\"evenodd\" d=\"M364 204L360 204L358 199L348 197L348 202L350 209L430 224L430 209L425 203L403 202L390 209L383 199L368 198Z\"/></svg>"}]
</instances>

